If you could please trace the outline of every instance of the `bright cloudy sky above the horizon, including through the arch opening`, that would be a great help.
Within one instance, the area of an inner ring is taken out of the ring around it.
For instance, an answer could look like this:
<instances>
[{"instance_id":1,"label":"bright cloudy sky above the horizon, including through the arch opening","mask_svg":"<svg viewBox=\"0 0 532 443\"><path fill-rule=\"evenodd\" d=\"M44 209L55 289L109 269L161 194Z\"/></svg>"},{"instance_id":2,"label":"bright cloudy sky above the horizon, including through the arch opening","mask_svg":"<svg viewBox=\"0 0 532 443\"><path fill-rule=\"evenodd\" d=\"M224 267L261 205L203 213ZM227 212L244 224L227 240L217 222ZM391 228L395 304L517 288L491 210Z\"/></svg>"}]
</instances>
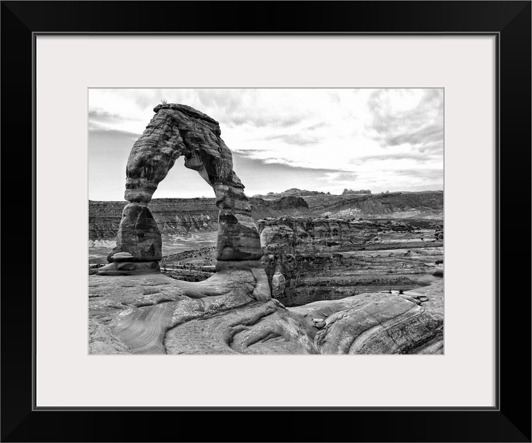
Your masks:
<instances>
[{"instance_id":1,"label":"bright cloudy sky above the horizon, including through the arch opening","mask_svg":"<svg viewBox=\"0 0 532 443\"><path fill-rule=\"evenodd\" d=\"M123 200L161 99L218 120L249 196L443 190L443 89L89 89L89 199ZM202 196L212 189L182 158L154 194Z\"/></svg>"}]
</instances>

